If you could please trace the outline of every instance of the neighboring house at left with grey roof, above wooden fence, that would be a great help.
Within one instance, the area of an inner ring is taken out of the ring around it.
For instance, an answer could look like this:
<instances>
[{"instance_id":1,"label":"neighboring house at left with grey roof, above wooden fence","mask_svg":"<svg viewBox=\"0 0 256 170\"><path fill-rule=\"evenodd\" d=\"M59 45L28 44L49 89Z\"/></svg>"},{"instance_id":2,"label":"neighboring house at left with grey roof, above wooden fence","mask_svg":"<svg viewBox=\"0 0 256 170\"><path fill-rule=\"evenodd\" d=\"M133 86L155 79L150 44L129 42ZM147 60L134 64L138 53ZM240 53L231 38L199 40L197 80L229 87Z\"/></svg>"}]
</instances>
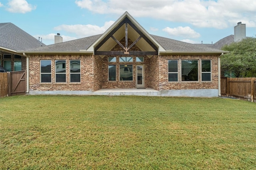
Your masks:
<instances>
[{"instance_id":1,"label":"neighboring house at left with grey roof, above wooden fence","mask_svg":"<svg viewBox=\"0 0 256 170\"><path fill-rule=\"evenodd\" d=\"M44 46L12 23L0 23L0 65L7 71L26 70L26 57L17 51Z\"/></svg>"}]
</instances>

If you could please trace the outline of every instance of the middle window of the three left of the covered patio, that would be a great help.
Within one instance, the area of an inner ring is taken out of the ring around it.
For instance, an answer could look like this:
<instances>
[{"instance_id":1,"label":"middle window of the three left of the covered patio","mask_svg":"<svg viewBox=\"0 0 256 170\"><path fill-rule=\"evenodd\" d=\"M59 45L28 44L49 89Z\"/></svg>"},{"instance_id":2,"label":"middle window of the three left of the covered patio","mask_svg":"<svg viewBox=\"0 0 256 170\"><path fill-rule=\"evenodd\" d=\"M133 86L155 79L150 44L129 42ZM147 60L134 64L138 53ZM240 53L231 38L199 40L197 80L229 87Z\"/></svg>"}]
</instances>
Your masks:
<instances>
[{"instance_id":1,"label":"middle window of the three left of the covered patio","mask_svg":"<svg viewBox=\"0 0 256 170\"><path fill-rule=\"evenodd\" d=\"M66 83L66 60L55 60L55 82Z\"/></svg>"}]
</instances>

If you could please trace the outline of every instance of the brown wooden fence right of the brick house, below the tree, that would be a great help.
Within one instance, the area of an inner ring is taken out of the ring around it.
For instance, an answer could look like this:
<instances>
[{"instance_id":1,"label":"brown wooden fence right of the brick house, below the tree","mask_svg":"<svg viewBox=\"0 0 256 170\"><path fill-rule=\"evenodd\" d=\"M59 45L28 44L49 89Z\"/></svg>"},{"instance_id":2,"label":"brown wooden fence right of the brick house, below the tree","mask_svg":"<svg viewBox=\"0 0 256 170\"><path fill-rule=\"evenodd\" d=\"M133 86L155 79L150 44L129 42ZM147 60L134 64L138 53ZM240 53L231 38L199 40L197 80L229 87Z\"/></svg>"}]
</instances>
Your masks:
<instances>
[{"instance_id":1,"label":"brown wooden fence right of the brick house, below the tree","mask_svg":"<svg viewBox=\"0 0 256 170\"><path fill-rule=\"evenodd\" d=\"M221 77L221 95L256 102L256 78Z\"/></svg>"}]
</instances>

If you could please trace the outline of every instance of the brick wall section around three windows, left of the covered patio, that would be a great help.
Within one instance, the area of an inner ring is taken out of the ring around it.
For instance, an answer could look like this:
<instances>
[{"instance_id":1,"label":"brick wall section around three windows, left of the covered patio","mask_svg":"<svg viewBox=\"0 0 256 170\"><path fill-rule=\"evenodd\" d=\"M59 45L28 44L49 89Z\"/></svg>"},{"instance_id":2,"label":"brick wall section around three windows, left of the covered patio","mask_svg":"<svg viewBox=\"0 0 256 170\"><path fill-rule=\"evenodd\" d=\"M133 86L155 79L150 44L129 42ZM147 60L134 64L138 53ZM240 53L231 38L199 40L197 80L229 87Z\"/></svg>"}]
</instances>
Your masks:
<instances>
[{"instance_id":1,"label":"brick wall section around three windows, left of the covered patio","mask_svg":"<svg viewBox=\"0 0 256 170\"><path fill-rule=\"evenodd\" d=\"M29 86L30 91L77 91L93 90L94 85L94 57L92 55L29 55ZM40 60L52 61L52 83L40 83ZM55 83L55 60L66 60L66 83ZM70 83L70 59L80 60L81 82Z\"/></svg>"}]
</instances>

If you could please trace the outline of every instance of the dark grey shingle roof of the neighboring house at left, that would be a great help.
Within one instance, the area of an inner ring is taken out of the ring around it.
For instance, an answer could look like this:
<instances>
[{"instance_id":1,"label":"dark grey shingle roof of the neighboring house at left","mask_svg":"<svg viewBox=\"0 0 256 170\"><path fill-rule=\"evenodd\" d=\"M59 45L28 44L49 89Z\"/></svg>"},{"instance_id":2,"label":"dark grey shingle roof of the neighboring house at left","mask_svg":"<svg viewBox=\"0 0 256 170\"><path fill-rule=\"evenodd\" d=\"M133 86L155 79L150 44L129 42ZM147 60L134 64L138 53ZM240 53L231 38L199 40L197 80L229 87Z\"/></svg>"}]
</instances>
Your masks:
<instances>
[{"instance_id":1,"label":"dark grey shingle roof of the neighboring house at left","mask_svg":"<svg viewBox=\"0 0 256 170\"><path fill-rule=\"evenodd\" d=\"M0 23L0 46L12 50L25 50L44 46L36 38L24 32L14 24Z\"/></svg>"}]
</instances>

